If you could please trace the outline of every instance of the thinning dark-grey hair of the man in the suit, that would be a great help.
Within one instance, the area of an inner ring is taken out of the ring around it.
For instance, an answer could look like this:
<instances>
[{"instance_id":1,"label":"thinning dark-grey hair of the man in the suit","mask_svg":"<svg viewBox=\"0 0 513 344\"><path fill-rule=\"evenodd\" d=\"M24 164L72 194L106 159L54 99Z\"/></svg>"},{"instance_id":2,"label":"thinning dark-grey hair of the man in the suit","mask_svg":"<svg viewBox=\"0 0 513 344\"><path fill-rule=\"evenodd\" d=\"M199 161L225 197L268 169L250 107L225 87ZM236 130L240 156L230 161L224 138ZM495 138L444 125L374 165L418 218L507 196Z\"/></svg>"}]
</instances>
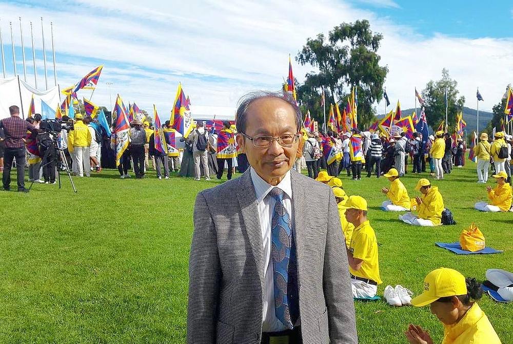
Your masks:
<instances>
[{"instance_id":1,"label":"thinning dark-grey hair of the man in the suit","mask_svg":"<svg viewBox=\"0 0 513 344\"><path fill-rule=\"evenodd\" d=\"M290 106L292 106L292 108L294 109L295 125L297 126L299 131L303 124L303 115L301 114L301 110L299 109L298 105L296 104L295 100L292 98L292 95L290 93L286 91L250 91L244 94L241 97L241 99L239 99L237 105L235 120L238 132L246 132L246 115L248 112L248 108L255 100L259 100L262 98L277 98L290 104Z\"/></svg>"}]
</instances>

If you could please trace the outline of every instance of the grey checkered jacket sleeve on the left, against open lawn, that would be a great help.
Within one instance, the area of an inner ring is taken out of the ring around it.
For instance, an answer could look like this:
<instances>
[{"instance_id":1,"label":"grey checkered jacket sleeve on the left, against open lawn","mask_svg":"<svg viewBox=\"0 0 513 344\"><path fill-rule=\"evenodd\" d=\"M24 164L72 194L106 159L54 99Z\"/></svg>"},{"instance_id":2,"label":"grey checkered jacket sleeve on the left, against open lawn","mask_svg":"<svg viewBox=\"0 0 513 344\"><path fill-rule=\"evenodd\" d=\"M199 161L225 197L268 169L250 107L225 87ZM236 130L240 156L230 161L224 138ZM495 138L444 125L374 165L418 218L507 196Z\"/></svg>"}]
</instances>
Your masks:
<instances>
[{"instance_id":1,"label":"grey checkered jacket sleeve on the left, against open lawn","mask_svg":"<svg viewBox=\"0 0 513 344\"><path fill-rule=\"evenodd\" d=\"M215 343L221 283L215 226L203 193L194 204L194 232L189 255L187 343Z\"/></svg>"}]
</instances>

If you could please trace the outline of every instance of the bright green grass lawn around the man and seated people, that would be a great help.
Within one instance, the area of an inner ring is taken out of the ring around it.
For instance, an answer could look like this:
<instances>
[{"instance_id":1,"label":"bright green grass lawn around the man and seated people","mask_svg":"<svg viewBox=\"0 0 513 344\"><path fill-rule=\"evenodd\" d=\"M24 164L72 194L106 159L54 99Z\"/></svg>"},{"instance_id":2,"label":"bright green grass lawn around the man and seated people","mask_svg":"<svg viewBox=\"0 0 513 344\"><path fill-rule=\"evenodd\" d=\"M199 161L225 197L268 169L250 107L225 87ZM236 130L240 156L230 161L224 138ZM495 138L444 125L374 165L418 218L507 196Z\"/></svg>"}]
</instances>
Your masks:
<instances>
[{"instance_id":1,"label":"bright green grass lawn around the man and seated people","mask_svg":"<svg viewBox=\"0 0 513 344\"><path fill-rule=\"evenodd\" d=\"M486 199L474 166L467 163L446 180L433 181L458 222L435 228L408 226L398 214L382 212L385 178L342 177L349 195L369 202L380 243L380 295L387 284L402 284L417 295L425 275L441 266L479 280L492 267L513 270L513 213L473 209ZM104 170L74 178L77 194L67 176L61 190L34 184L29 194L0 192L1 343L185 342L194 197L218 181L157 180L154 171L147 176L121 180L117 170ZM402 179L410 197L417 195L418 178ZM463 256L435 247L435 241L458 241L472 221L487 245L503 254ZM502 341L513 342L513 303L484 296L480 305ZM385 302L356 308L361 343L406 343L409 322L442 341L442 326L429 308Z\"/></svg>"}]
</instances>

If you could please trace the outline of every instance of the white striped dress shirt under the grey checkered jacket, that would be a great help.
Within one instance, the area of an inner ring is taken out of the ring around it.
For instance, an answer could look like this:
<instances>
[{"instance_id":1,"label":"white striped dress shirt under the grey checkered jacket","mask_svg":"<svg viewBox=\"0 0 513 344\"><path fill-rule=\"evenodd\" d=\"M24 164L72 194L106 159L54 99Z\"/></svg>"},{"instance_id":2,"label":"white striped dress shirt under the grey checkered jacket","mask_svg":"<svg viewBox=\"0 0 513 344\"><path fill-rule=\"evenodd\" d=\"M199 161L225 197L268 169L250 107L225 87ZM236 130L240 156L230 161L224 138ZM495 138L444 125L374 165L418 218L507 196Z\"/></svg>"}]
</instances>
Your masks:
<instances>
[{"instance_id":1,"label":"white striped dress shirt under the grey checkered jacket","mask_svg":"<svg viewBox=\"0 0 513 344\"><path fill-rule=\"evenodd\" d=\"M276 186L272 186L263 180L253 167L250 168L250 175L255 188L255 195L257 196L260 226L262 228L262 238L264 241L265 290L263 291L264 295L262 297L264 302L262 332L283 331L287 328L276 317L274 308L274 282L271 259L271 220L276 201L273 197L267 197L267 195L273 187L280 188L284 193L283 205L292 219L292 185L290 183L290 171L287 172L285 177L283 177L281 182Z\"/></svg>"}]
</instances>

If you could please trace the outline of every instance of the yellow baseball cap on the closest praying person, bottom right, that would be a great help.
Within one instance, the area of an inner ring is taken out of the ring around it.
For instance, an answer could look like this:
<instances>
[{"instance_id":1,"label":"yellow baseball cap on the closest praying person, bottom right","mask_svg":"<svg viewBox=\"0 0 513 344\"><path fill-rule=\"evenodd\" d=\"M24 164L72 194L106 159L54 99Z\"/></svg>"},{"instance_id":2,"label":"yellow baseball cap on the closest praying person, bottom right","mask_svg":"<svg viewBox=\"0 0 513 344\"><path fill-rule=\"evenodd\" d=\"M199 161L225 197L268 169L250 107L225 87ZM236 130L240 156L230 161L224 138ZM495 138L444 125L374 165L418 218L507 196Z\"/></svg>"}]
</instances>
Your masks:
<instances>
[{"instance_id":1,"label":"yellow baseball cap on the closest praying person, bottom right","mask_svg":"<svg viewBox=\"0 0 513 344\"><path fill-rule=\"evenodd\" d=\"M423 307L441 297L467 294L465 277L456 270L441 267L424 278L424 292L411 299L411 304Z\"/></svg>"}]
</instances>

